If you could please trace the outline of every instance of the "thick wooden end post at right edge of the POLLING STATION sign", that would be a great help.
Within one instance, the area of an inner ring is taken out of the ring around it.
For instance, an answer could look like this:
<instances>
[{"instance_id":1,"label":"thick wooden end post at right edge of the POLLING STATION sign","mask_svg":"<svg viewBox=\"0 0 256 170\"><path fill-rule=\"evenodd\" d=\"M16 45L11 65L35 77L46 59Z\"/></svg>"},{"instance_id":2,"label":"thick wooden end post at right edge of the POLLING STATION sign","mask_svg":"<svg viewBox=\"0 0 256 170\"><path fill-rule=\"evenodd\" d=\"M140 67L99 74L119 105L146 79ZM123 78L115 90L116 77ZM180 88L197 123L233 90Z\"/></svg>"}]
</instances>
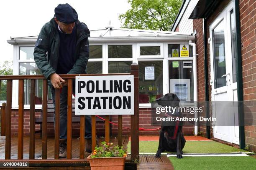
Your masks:
<instances>
[{"instance_id":1,"label":"thick wooden end post at right edge of the POLLING STATION sign","mask_svg":"<svg viewBox=\"0 0 256 170\"><path fill-rule=\"evenodd\" d=\"M134 76L134 115L131 115L131 160L139 159L139 109L138 109L138 64L131 65L131 75Z\"/></svg>"}]
</instances>

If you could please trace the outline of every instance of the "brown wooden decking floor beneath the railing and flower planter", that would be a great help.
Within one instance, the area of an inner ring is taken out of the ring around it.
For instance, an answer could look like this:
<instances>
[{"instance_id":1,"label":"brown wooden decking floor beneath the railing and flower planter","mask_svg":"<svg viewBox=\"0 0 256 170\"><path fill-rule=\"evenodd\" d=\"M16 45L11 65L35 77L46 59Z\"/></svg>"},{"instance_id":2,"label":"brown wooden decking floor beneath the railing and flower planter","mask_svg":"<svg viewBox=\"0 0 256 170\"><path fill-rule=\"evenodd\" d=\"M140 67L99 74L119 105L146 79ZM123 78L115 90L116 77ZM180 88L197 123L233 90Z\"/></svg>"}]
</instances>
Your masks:
<instances>
[{"instance_id":1,"label":"brown wooden decking floor beneath the railing and flower planter","mask_svg":"<svg viewBox=\"0 0 256 170\"><path fill-rule=\"evenodd\" d=\"M98 143L100 144L104 138L98 138ZM123 136L123 147L127 148L129 138L128 136ZM118 139L111 137L110 142L118 145ZM47 159L54 160L54 138L48 138L47 140ZM18 153L18 137L12 136L11 138L11 160L17 159ZM79 162L72 162L67 159L59 159L54 162L48 163L47 161L40 162L42 159L42 143L41 138L35 140L35 160L29 161L29 167L19 169L85 169L90 170L90 164L86 159L82 159ZM85 153L84 158L86 158L90 153ZM29 136L24 136L24 152L23 159L24 162L29 158ZM5 159L5 137L0 137L0 160ZM72 159L79 159L79 138L72 139ZM47 165L46 165L47 164ZM79 165L80 166L79 166ZM32 166L32 167L31 167ZM166 157L162 155L161 158L155 158L155 155L140 155L139 163L135 165L131 163L131 155L128 155L125 163L125 170L174 170L172 163ZM0 167L1 169L2 167Z\"/></svg>"}]
</instances>

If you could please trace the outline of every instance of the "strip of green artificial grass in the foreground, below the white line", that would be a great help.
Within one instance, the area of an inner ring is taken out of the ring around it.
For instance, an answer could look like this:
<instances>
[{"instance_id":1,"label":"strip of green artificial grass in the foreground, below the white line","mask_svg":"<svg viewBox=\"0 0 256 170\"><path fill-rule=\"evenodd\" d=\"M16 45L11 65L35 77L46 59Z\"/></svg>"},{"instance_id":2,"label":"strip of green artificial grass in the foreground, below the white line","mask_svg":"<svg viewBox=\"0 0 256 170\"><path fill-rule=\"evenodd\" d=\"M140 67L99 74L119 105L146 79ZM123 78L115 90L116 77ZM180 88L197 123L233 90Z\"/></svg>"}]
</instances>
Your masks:
<instances>
[{"instance_id":1,"label":"strip of green artificial grass in the foreground, below the white line","mask_svg":"<svg viewBox=\"0 0 256 170\"><path fill-rule=\"evenodd\" d=\"M255 170L256 167L256 159L251 156L168 158L174 170Z\"/></svg>"}]
</instances>

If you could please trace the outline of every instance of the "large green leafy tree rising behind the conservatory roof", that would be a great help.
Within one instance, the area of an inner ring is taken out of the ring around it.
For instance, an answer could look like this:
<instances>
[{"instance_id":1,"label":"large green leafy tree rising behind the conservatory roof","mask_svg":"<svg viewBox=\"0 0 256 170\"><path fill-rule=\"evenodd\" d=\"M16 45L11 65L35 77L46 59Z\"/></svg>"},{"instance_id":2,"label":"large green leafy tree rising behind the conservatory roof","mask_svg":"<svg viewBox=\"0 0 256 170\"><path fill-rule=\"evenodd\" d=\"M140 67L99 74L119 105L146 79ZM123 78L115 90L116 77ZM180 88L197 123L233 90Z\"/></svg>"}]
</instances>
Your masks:
<instances>
[{"instance_id":1,"label":"large green leafy tree rising behind the conservatory roof","mask_svg":"<svg viewBox=\"0 0 256 170\"><path fill-rule=\"evenodd\" d=\"M119 15L121 28L170 31L182 0L128 0L131 9Z\"/></svg>"}]
</instances>

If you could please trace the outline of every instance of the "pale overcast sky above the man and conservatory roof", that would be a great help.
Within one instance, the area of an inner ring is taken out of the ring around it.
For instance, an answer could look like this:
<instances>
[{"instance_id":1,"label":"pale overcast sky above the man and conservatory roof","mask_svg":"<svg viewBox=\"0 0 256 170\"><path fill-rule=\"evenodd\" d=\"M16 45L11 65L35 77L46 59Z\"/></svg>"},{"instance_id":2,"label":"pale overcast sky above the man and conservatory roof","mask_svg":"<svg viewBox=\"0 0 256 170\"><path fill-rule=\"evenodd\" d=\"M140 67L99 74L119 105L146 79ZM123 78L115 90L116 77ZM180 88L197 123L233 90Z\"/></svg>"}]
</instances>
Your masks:
<instances>
[{"instance_id":1,"label":"pale overcast sky above the man and conservatory roof","mask_svg":"<svg viewBox=\"0 0 256 170\"><path fill-rule=\"evenodd\" d=\"M1 60L13 60L11 37L38 35L42 26L54 16L59 3L69 3L78 19L90 30L105 28L111 20L114 28L120 28L118 15L131 8L127 0L3 0L0 5L0 51Z\"/></svg>"}]
</instances>

